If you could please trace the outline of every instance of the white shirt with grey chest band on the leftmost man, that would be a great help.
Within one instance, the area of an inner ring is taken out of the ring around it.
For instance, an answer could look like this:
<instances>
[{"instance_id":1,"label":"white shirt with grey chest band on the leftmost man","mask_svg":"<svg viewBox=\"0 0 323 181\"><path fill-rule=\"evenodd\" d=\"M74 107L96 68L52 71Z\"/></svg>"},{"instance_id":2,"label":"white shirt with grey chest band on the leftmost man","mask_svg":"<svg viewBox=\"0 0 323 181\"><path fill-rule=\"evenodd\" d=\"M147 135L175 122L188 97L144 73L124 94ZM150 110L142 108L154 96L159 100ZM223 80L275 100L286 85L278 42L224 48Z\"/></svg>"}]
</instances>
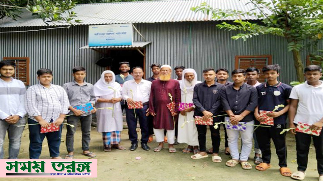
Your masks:
<instances>
[{"instance_id":1,"label":"white shirt with grey chest band on the leftmost man","mask_svg":"<svg viewBox=\"0 0 323 181\"><path fill-rule=\"evenodd\" d=\"M0 119L18 115L24 117L26 87L22 81L12 79L6 82L0 79Z\"/></svg>"}]
</instances>

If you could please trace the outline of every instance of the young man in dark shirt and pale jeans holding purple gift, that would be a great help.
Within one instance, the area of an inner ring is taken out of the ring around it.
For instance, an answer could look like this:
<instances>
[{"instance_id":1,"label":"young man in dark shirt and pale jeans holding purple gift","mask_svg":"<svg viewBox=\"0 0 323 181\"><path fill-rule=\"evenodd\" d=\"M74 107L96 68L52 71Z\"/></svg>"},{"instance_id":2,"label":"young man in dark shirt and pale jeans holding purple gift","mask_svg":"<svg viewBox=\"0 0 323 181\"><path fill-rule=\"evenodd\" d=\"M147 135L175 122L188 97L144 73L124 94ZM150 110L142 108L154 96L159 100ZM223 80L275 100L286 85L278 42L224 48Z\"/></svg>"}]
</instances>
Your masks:
<instances>
[{"instance_id":1,"label":"young man in dark shirt and pale jeans holding purple gift","mask_svg":"<svg viewBox=\"0 0 323 181\"><path fill-rule=\"evenodd\" d=\"M258 94L255 87L246 84L245 71L236 69L232 71L233 84L227 85L221 92L221 102L224 111L228 114L232 125L245 122L245 131L227 129L228 145L232 159L226 162L226 166L234 167L239 162L243 169L251 169L248 158L252 149L254 132L254 113L258 105ZM241 154L238 151L239 133L242 139Z\"/></svg>"}]
</instances>

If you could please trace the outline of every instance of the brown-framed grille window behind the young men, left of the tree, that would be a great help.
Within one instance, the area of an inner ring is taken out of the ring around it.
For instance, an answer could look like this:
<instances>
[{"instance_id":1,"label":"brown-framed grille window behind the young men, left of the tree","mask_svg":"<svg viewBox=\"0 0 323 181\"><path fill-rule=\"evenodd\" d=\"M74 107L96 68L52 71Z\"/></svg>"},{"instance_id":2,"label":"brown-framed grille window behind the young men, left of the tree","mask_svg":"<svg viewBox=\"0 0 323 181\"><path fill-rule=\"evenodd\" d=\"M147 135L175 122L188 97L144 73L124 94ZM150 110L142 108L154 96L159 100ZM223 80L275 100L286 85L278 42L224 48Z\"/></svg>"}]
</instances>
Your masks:
<instances>
[{"instance_id":1,"label":"brown-framed grille window behind the young men, left of the tree","mask_svg":"<svg viewBox=\"0 0 323 181\"><path fill-rule=\"evenodd\" d=\"M271 55L256 55L256 56L235 56L235 69L244 69L246 70L248 67L255 67L261 71L261 69L266 66L272 64L272 56ZM258 78L259 82L265 82L265 76L263 73L260 74Z\"/></svg>"}]
</instances>

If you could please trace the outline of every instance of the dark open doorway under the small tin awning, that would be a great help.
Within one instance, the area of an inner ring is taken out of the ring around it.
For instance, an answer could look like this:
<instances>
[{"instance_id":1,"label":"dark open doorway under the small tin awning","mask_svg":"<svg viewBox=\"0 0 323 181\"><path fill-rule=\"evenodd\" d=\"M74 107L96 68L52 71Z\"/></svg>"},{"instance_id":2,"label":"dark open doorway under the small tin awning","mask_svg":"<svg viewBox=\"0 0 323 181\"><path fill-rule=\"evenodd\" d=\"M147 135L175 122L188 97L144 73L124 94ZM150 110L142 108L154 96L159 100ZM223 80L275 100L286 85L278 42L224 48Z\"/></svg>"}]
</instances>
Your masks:
<instances>
[{"instance_id":1,"label":"dark open doorway under the small tin awning","mask_svg":"<svg viewBox=\"0 0 323 181\"><path fill-rule=\"evenodd\" d=\"M142 53L144 53L144 49L140 50ZM108 57L112 58L112 62L110 64L110 67L107 67L111 71L113 71L116 75L120 73L119 71L119 62L129 62L130 63L130 71L132 67L142 67L145 72L145 58L144 56L136 49L131 50L109 50Z\"/></svg>"}]
</instances>

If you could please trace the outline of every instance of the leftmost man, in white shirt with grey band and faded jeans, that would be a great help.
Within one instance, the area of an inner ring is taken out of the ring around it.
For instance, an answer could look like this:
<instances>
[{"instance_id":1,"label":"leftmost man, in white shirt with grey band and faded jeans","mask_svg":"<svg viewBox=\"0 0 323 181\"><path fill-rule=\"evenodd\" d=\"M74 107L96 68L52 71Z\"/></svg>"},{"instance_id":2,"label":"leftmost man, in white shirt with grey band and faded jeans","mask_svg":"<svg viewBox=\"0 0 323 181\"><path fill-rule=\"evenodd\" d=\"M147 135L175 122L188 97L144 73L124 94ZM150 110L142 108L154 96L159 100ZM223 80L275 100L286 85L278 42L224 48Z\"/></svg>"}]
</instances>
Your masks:
<instances>
[{"instance_id":1,"label":"leftmost man, in white shirt with grey band and faded jeans","mask_svg":"<svg viewBox=\"0 0 323 181\"><path fill-rule=\"evenodd\" d=\"M12 78L15 67L13 61L0 62L0 159L4 158L3 144L7 131L9 138L7 159L18 159L24 126L17 126L26 124L24 118L26 87L22 81Z\"/></svg>"}]
</instances>

